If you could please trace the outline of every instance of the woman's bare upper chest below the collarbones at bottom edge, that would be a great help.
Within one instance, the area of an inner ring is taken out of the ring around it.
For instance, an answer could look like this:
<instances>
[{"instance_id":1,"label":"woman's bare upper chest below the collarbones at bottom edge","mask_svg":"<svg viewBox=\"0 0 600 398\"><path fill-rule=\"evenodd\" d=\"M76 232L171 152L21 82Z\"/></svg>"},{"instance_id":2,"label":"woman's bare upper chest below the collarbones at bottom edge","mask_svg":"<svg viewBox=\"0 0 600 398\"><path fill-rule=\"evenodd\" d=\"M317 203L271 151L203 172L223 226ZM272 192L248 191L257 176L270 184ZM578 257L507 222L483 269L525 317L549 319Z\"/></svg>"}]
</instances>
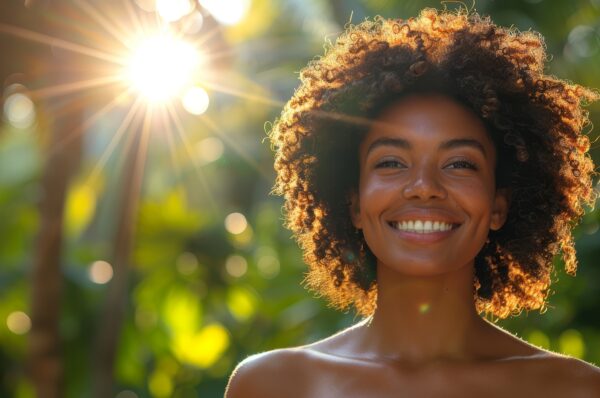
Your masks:
<instances>
[{"instance_id":1,"label":"woman's bare upper chest below the collarbones at bottom edge","mask_svg":"<svg viewBox=\"0 0 600 398\"><path fill-rule=\"evenodd\" d=\"M543 369L502 364L407 369L379 364L312 366L298 397L511 397L576 396Z\"/></svg>"}]
</instances>

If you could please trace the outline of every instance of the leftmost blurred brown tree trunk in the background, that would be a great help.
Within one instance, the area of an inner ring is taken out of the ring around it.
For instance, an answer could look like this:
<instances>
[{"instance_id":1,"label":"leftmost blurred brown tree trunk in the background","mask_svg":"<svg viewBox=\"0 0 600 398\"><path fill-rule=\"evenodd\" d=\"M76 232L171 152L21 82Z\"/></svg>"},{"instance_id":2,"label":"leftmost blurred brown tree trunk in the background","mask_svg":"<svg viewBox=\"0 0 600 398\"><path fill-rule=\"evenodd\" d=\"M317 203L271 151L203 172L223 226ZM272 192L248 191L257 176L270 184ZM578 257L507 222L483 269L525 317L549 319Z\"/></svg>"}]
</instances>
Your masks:
<instances>
[{"instance_id":1,"label":"leftmost blurred brown tree trunk in the background","mask_svg":"<svg viewBox=\"0 0 600 398\"><path fill-rule=\"evenodd\" d=\"M63 80L61 64L54 62L52 82ZM53 100L56 107L56 99ZM75 101L62 99L60 106L73 109ZM42 103L43 104L43 103ZM48 104L46 104L48 105ZM62 230L66 192L81 156L81 112L75 110L49 124L49 145L42 175L40 230L31 272L31 332L28 370L37 397L63 396L59 319L62 297ZM73 139L65 140L73 135Z\"/></svg>"}]
</instances>

